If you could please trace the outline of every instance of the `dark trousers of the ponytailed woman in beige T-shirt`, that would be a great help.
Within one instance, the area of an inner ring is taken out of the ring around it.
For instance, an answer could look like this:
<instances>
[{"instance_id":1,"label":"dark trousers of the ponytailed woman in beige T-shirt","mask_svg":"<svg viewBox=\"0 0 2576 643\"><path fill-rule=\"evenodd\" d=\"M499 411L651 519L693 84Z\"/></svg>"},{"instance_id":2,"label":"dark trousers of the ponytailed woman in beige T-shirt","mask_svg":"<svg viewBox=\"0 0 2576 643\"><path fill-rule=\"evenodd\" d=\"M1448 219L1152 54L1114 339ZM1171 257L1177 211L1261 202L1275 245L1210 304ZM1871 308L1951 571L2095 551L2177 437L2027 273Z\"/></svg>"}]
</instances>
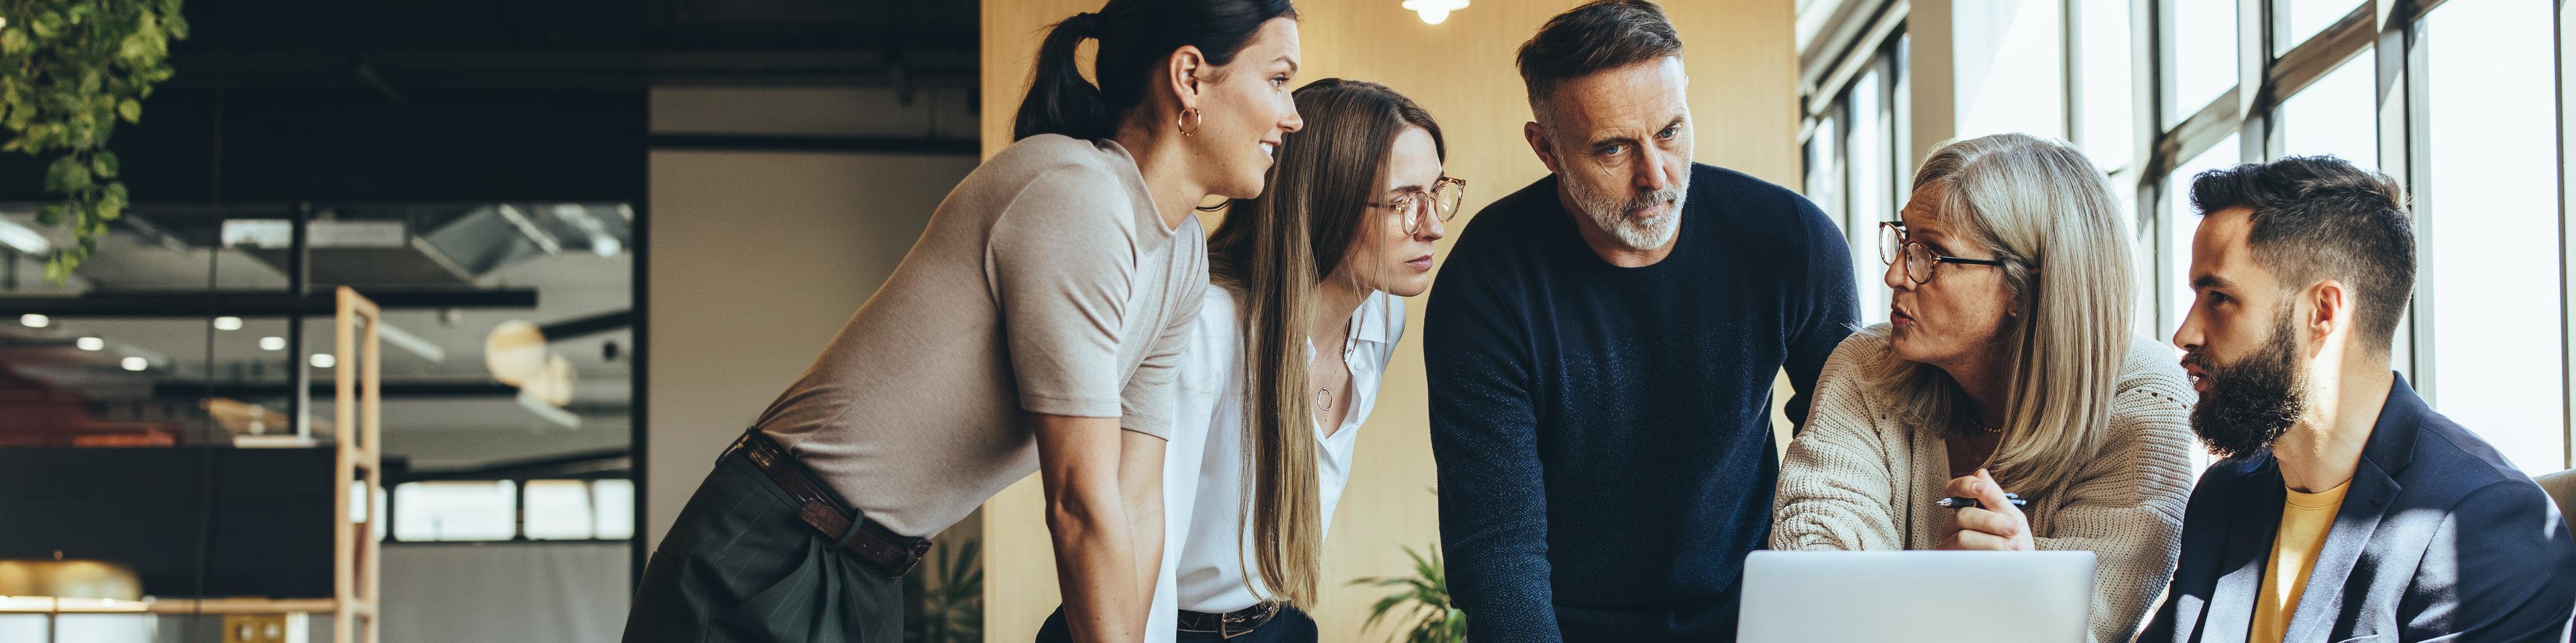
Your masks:
<instances>
[{"instance_id":1,"label":"dark trousers of the ponytailed woman in beige T-shirt","mask_svg":"<svg viewBox=\"0 0 2576 643\"><path fill-rule=\"evenodd\" d=\"M747 455L698 484L644 566L626 643L902 643L904 586L796 520Z\"/></svg>"}]
</instances>

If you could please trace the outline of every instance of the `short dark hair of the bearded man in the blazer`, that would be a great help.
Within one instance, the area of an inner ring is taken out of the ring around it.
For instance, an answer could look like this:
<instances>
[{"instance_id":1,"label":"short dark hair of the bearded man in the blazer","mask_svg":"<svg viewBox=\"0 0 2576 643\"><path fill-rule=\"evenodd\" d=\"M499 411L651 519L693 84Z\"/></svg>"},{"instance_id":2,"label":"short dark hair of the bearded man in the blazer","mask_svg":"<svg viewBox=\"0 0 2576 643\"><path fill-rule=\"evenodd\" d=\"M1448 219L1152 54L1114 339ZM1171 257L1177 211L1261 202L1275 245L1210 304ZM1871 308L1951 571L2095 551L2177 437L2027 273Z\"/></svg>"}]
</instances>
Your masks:
<instances>
[{"instance_id":1,"label":"short dark hair of the bearded man in the blazer","mask_svg":"<svg viewBox=\"0 0 2576 643\"><path fill-rule=\"evenodd\" d=\"M2342 280L2360 293L2352 316L2372 347L2396 340L2414 298L2414 216L2388 175L2336 157L2285 157L2208 170L2192 177L2202 216L2251 208L2246 244L2285 288Z\"/></svg>"}]
</instances>

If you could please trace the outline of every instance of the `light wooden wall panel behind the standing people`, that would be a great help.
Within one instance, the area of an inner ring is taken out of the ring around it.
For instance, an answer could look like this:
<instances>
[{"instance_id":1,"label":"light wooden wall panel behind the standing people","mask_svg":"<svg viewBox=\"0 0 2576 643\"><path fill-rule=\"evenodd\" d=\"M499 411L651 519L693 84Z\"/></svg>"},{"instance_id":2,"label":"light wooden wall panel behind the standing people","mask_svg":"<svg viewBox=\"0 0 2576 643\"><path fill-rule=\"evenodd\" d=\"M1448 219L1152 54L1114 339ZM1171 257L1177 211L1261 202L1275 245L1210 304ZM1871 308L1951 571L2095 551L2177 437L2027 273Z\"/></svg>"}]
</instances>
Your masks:
<instances>
[{"instance_id":1,"label":"light wooden wall panel behind the standing people","mask_svg":"<svg viewBox=\"0 0 2576 643\"><path fill-rule=\"evenodd\" d=\"M1466 213L1546 175L1520 126L1530 108L1512 67L1515 49L1569 0L1476 0L1427 26L1399 0L1301 0L1298 21L1306 72L1373 80L1412 95L1448 134L1448 172L1466 177ZM984 152L1010 144L1010 113L1028 90L1030 62L1046 26L1097 0L984 0ZM1664 3L1682 31L1690 108L1698 123L1698 159L1734 167L1780 185L1801 185L1798 170L1798 57L1790 44L1790 0ZM1213 229L1216 221L1208 221ZM1448 242L1440 244L1448 257ZM1437 285L1435 285L1437 288ZM1409 306L1422 327L1422 301ZM1785 399L1785 396L1783 396ZM1388 630L1360 633L1378 589L1342 586L1358 576L1406 574L1401 545L1440 540L1432 502L1432 453L1422 383L1422 342L1404 337L1378 399L1360 430L1360 453L1334 530L1327 535L1324 594L1316 622L1324 640L1383 640ZM1028 640L1059 602L1054 556L1046 540L1036 478L1020 481L984 507L984 622L987 640Z\"/></svg>"}]
</instances>

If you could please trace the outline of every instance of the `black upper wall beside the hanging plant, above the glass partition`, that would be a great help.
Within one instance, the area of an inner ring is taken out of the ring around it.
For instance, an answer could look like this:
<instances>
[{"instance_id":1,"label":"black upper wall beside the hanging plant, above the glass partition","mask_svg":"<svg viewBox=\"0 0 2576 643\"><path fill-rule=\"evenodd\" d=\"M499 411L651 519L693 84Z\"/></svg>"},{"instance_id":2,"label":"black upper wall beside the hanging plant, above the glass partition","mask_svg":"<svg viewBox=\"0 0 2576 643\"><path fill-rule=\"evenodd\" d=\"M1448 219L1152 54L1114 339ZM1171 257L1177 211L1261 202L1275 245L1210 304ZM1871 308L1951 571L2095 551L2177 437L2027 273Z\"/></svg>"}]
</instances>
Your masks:
<instances>
[{"instance_id":1,"label":"black upper wall beside the hanging plant, above the glass partition","mask_svg":"<svg viewBox=\"0 0 2576 643\"><path fill-rule=\"evenodd\" d=\"M139 206L641 201L647 87L974 87L979 3L191 0ZM52 201L0 154L0 203Z\"/></svg>"}]
</instances>

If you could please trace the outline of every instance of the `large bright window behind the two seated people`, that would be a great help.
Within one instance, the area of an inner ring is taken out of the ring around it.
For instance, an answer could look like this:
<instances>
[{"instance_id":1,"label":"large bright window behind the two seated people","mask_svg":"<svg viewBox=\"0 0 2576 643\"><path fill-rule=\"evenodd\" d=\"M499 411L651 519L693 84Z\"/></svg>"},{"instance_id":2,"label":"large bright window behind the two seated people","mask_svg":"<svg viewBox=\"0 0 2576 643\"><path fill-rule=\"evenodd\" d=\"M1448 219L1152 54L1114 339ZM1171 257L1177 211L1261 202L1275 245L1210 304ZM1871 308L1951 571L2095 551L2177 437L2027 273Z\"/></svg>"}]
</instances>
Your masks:
<instances>
[{"instance_id":1,"label":"large bright window behind the two seated people","mask_svg":"<svg viewBox=\"0 0 2576 643\"><path fill-rule=\"evenodd\" d=\"M1899 15L1904 3L1886 0ZM1919 8L1917 8L1919 10ZM2532 0L2038 0L1960 3L1950 33L1868 33L1808 69L1808 188L1847 231L1904 203L1906 59L1950 46L1955 136L2066 136L2136 213L2141 334L2190 311L2190 183L2246 159L2331 154L2396 180L2419 280L2391 365L2530 473L2571 466L2576 252L2555 3ZM1847 10L1873 15L1868 10ZM2045 51L2038 51L2038 49ZM2566 57L2566 59L2561 59ZM1860 59L1870 59L1862 64ZM1821 77L1821 82L1819 82ZM1865 322L1886 316L1875 239L1855 234Z\"/></svg>"}]
</instances>

